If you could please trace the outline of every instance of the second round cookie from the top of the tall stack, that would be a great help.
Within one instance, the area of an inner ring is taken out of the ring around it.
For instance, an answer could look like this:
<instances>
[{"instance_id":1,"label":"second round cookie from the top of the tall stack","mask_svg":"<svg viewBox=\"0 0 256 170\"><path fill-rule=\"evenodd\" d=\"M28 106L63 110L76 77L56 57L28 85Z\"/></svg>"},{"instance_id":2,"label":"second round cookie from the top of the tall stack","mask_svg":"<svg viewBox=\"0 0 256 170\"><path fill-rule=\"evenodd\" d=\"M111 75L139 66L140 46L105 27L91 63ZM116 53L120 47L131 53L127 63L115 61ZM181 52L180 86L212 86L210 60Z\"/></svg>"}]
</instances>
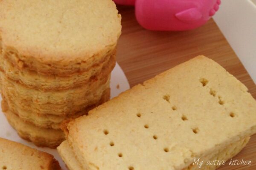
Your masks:
<instances>
[{"instance_id":1,"label":"second round cookie from the top of the tall stack","mask_svg":"<svg viewBox=\"0 0 256 170\"><path fill-rule=\"evenodd\" d=\"M90 82L96 75L101 75L106 72L105 69L109 66L113 67L116 61L116 52L114 51L111 56L106 56L101 63L95 63L90 69L85 72L76 72L72 75L55 76L55 75L41 75L35 71L27 69L18 69L6 61L3 55L0 55L0 70L5 75L23 84L31 89L40 89L41 91L56 91L75 88Z\"/></svg>"}]
</instances>

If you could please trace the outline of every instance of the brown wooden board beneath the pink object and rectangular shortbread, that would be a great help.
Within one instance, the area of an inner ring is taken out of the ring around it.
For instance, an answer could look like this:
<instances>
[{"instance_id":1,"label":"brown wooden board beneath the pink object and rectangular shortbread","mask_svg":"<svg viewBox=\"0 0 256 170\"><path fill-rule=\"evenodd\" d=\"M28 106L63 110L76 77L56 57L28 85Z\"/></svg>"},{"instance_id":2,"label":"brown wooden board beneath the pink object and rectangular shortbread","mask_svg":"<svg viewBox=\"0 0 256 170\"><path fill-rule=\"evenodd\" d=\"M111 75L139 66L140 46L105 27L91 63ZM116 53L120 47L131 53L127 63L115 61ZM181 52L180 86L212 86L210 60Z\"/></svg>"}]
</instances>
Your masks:
<instances>
[{"instance_id":1,"label":"brown wooden board beneath the pink object and rectangular shortbread","mask_svg":"<svg viewBox=\"0 0 256 170\"><path fill-rule=\"evenodd\" d=\"M118 10L122 15L122 35L117 62L131 86L197 55L205 55L236 76L256 98L256 85L212 19L192 31L152 32L140 27L133 7L118 6ZM251 165L228 165L228 161L220 170L256 170L256 135L233 159L251 161Z\"/></svg>"}]
</instances>

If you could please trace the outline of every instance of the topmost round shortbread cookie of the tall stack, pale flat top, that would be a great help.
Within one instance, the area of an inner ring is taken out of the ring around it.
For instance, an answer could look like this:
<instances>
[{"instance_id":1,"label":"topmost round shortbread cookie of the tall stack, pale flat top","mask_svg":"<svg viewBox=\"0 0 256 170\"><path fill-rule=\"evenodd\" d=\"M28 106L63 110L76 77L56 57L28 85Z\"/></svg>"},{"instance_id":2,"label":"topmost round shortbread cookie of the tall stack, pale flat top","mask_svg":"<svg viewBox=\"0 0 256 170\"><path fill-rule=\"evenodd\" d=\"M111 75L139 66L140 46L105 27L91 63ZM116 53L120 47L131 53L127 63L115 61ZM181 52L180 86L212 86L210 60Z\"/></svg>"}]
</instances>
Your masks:
<instances>
[{"instance_id":1,"label":"topmost round shortbread cookie of the tall stack, pale flat top","mask_svg":"<svg viewBox=\"0 0 256 170\"><path fill-rule=\"evenodd\" d=\"M1 0L0 28L1 53L15 67L67 75L113 52L121 16L112 0Z\"/></svg>"}]
</instances>

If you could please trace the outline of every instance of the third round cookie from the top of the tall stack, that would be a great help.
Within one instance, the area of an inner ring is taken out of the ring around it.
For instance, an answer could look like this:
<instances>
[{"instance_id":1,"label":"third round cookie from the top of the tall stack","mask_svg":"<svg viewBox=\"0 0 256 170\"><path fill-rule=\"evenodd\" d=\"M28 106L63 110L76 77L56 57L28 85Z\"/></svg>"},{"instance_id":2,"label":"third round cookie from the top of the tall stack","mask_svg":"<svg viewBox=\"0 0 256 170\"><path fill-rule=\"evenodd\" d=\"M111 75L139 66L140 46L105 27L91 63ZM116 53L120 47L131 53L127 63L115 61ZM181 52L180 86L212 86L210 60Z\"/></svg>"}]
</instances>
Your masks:
<instances>
[{"instance_id":1,"label":"third round cookie from the top of the tall stack","mask_svg":"<svg viewBox=\"0 0 256 170\"><path fill-rule=\"evenodd\" d=\"M1 94L11 108L16 107L39 115L74 115L100 100L102 93L109 88L110 76L104 79L107 79L104 84L92 85L91 89L83 87L71 89L63 95L61 92L47 94L32 89L25 89L26 91L15 89L14 91L10 86L8 88L2 86Z\"/></svg>"}]
</instances>

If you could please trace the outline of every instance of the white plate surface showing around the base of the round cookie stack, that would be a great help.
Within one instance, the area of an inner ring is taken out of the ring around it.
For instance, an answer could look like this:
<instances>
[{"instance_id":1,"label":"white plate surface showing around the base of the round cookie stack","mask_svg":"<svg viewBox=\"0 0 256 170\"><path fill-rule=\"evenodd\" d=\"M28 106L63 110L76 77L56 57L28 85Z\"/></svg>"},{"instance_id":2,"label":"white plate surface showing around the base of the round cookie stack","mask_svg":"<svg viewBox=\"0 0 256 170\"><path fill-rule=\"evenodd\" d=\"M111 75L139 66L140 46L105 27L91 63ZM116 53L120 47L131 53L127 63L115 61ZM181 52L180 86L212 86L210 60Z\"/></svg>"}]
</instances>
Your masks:
<instances>
[{"instance_id":1,"label":"white plate surface showing around the base of the round cookie stack","mask_svg":"<svg viewBox=\"0 0 256 170\"><path fill-rule=\"evenodd\" d=\"M116 63L116 67L113 69L113 72L111 73L111 98L119 95L119 93L130 89L130 85L128 83L128 80L122 71L121 67ZM0 100L2 100L0 96ZM49 149L47 147L36 147L32 142L23 140L17 135L17 132L9 125L7 122L2 110L0 109L0 137L6 138L11 141L16 141L21 144L25 144L29 147L36 148L38 150L42 150L44 152L52 154L55 159L57 159L61 165L62 170L67 170L64 162L62 161L61 157L59 156L57 150Z\"/></svg>"}]
</instances>

